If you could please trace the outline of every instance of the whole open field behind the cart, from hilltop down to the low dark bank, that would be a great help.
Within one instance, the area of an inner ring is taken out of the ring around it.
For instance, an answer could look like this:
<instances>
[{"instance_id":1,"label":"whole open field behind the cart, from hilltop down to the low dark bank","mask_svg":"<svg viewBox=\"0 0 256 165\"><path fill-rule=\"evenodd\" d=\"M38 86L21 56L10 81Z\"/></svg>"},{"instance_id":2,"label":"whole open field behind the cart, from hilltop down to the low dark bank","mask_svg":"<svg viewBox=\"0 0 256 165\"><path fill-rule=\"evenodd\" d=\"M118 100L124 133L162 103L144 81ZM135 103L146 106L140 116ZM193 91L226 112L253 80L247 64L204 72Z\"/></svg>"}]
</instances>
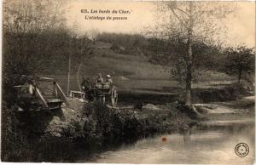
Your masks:
<instances>
[{"instance_id":1,"label":"whole open field behind the cart, from hilltop down to the low dark bank","mask_svg":"<svg viewBox=\"0 0 256 165\"><path fill-rule=\"evenodd\" d=\"M95 82L97 73L102 73L103 78L110 74L114 84L119 89L119 102L127 104L136 102L167 102L177 100L183 94L184 85L178 83L168 71L172 66L164 67L149 62L149 57L144 55L119 54L111 49L110 43L98 42L93 50L93 56L84 60L79 74L79 83L76 71L79 61L72 62L70 88L79 90L82 77L89 77ZM224 88L235 83L236 77L230 77L218 71L197 71L197 81L192 84L196 91ZM60 74L42 74L43 77L55 78L61 88L67 93L67 71Z\"/></svg>"}]
</instances>

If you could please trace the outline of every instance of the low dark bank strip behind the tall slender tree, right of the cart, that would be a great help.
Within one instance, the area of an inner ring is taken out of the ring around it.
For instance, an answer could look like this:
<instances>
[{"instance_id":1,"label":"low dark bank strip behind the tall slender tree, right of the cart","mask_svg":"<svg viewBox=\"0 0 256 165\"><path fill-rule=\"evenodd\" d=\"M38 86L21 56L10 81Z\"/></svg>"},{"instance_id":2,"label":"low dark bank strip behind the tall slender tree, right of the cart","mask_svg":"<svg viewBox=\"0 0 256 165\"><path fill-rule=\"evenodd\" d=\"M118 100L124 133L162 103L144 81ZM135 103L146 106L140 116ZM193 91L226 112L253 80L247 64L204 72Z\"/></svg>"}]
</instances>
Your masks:
<instances>
[{"instance_id":1,"label":"low dark bank strip behind the tall slender tree, right of the cart","mask_svg":"<svg viewBox=\"0 0 256 165\"><path fill-rule=\"evenodd\" d=\"M172 86L153 88L123 89L119 91L119 104L135 103L163 104L183 100L184 88ZM193 103L237 100L243 96L253 95L253 83L196 83L192 88Z\"/></svg>"}]
</instances>

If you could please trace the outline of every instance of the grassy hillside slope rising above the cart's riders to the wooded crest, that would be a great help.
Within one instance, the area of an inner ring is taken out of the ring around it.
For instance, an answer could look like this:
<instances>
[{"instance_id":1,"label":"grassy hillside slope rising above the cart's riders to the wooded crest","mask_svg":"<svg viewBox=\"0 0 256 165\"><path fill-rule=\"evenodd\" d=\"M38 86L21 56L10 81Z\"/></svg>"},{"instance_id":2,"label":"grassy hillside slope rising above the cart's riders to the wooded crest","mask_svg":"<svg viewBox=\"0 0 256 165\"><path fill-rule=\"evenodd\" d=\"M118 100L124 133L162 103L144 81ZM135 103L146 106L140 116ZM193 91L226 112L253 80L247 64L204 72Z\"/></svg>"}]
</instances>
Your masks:
<instances>
[{"instance_id":1,"label":"grassy hillside slope rising above the cart's riders to the wooded crest","mask_svg":"<svg viewBox=\"0 0 256 165\"><path fill-rule=\"evenodd\" d=\"M104 47L105 45L105 47ZM74 68L73 68L74 69ZM143 55L119 54L113 51L109 43L96 43L93 57L84 62L81 75L84 77L111 74L113 77L136 79L169 79L170 75L161 65L148 62Z\"/></svg>"}]
</instances>

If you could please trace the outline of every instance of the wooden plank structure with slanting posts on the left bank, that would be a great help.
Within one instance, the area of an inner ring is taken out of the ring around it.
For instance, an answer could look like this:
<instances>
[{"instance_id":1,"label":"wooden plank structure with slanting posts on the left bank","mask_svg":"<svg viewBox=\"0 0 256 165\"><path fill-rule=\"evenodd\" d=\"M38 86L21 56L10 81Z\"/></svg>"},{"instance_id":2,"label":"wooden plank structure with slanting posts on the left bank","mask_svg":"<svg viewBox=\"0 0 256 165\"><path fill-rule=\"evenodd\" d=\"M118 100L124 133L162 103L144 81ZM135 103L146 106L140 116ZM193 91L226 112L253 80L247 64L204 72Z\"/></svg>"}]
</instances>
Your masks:
<instances>
[{"instance_id":1,"label":"wooden plank structure with slanting posts on the left bank","mask_svg":"<svg viewBox=\"0 0 256 165\"><path fill-rule=\"evenodd\" d=\"M26 83L15 86L16 105L21 110L59 109L63 102L68 105L66 95L53 78L24 77Z\"/></svg>"}]
</instances>

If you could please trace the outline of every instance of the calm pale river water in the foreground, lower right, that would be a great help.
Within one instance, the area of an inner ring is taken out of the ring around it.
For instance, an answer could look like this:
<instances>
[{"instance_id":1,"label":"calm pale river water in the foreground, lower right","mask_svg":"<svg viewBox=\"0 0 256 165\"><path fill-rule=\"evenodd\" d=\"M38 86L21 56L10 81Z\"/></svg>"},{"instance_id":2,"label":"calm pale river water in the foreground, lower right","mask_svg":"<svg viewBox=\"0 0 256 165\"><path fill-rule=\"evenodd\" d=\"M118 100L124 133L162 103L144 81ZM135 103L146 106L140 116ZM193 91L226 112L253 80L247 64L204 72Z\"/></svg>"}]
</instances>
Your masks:
<instances>
[{"instance_id":1,"label":"calm pale river water in the foreground, lower right","mask_svg":"<svg viewBox=\"0 0 256 165\"><path fill-rule=\"evenodd\" d=\"M93 162L253 164L254 117L240 115L235 109L214 111L209 113L209 119L185 131L140 139L135 144L105 151ZM249 146L249 153L244 157L235 152L241 142Z\"/></svg>"}]
</instances>

